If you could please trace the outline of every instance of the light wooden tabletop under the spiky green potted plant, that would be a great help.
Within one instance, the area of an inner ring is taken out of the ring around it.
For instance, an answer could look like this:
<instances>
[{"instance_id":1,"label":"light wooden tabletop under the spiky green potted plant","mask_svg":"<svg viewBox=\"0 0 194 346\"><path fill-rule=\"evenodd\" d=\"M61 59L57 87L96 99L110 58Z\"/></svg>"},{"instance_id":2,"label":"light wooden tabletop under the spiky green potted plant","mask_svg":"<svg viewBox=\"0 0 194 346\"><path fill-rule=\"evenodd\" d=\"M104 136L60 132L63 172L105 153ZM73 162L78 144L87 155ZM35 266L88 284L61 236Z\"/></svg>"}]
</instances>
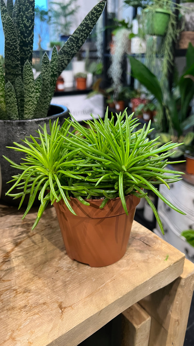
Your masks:
<instances>
[{"instance_id":1,"label":"light wooden tabletop under the spiky green potted plant","mask_svg":"<svg viewBox=\"0 0 194 346\"><path fill-rule=\"evenodd\" d=\"M66 254L54 208L0 208L0 345L74 346L146 295L174 281L184 254L133 223L125 256L91 268Z\"/></svg>"}]
</instances>

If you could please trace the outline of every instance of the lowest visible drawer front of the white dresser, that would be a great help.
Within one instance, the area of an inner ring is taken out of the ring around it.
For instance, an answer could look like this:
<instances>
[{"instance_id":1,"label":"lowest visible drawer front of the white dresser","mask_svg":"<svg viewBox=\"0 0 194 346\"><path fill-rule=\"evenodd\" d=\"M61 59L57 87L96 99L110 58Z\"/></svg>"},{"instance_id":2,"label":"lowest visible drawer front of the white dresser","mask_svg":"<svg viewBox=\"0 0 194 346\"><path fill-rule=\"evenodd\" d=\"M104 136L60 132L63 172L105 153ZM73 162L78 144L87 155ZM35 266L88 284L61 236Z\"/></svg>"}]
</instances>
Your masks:
<instances>
[{"instance_id":1,"label":"lowest visible drawer front of the white dresser","mask_svg":"<svg viewBox=\"0 0 194 346\"><path fill-rule=\"evenodd\" d=\"M165 233L165 235L162 235L161 238L163 238L164 240L166 240L166 242L176 247L178 250L182 251L185 254L186 258L188 258L188 260L194 262L194 247L187 243L184 237L178 234L171 222L169 220L166 220L165 215L162 212L159 212L159 215ZM159 235L158 227L155 233Z\"/></svg>"}]
</instances>

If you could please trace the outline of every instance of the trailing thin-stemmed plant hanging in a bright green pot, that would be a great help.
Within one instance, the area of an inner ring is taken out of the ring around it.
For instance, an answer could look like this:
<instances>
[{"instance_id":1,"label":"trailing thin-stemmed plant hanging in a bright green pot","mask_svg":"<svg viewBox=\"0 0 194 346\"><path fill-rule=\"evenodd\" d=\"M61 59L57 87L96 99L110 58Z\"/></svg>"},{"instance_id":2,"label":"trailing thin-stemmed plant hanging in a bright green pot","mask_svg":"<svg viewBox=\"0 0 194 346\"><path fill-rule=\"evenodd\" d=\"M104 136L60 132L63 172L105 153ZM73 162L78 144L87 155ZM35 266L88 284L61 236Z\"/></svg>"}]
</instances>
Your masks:
<instances>
[{"instance_id":1,"label":"trailing thin-stemmed plant hanging in a bright green pot","mask_svg":"<svg viewBox=\"0 0 194 346\"><path fill-rule=\"evenodd\" d=\"M180 28L177 27L175 10L180 5L171 0L155 0L142 11L141 23L144 34L147 35L146 66L158 74L162 83L167 80L168 72L172 70L174 54L173 41L176 42Z\"/></svg>"}]
</instances>

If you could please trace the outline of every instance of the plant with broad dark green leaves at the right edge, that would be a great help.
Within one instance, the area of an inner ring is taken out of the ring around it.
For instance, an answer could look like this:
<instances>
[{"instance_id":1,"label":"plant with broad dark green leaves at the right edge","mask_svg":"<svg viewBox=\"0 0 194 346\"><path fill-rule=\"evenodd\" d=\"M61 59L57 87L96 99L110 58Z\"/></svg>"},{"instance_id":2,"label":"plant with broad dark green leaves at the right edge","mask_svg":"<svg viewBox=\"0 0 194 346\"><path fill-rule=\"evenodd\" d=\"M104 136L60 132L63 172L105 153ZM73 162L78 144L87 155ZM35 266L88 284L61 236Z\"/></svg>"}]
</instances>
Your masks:
<instances>
[{"instance_id":1,"label":"plant with broad dark green leaves at the right edge","mask_svg":"<svg viewBox=\"0 0 194 346\"><path fill-rule=\"evenodd\" d=\"M190 102L194 96L194 47L190 44L186 53L185 71L172 90L163 89L159 80L140 61L130 57L134 78L144 85L157 100L156 126L157 133L161 134L161 142L170 140L184 142L190 145L193 140L192 126L194 115L190 114ZM190 131L189 131L190 130ZM185 146L182 146L173 154L179 157L184 154Z\"/></svg>"}]
</instances>

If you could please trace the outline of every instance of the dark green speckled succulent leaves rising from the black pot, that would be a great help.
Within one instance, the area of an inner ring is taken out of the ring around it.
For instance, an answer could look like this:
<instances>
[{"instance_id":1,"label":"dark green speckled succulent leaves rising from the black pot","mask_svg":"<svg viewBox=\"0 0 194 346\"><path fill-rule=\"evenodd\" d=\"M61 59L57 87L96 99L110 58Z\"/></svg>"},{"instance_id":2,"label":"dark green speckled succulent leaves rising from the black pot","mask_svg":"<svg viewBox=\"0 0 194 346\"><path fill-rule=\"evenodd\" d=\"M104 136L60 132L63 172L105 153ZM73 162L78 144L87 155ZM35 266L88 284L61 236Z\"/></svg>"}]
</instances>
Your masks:
<instances>
[{"instance_id":1,"label":"dark green speckled succulent leaves rising from the black pot","mask_svg":"<svg viewBox=\"0 0 194 346\"><path fill-rule=\"evenodd\" d=\"M60 49L42 59L41 74L34 81L32 51L34 0L0 0L5 36L5 75L0 60L0 119L33 119L47 116L57 78L79 51L99 19L105 1L88 13L80 26Z\"/></svg>"}]
</instances>

